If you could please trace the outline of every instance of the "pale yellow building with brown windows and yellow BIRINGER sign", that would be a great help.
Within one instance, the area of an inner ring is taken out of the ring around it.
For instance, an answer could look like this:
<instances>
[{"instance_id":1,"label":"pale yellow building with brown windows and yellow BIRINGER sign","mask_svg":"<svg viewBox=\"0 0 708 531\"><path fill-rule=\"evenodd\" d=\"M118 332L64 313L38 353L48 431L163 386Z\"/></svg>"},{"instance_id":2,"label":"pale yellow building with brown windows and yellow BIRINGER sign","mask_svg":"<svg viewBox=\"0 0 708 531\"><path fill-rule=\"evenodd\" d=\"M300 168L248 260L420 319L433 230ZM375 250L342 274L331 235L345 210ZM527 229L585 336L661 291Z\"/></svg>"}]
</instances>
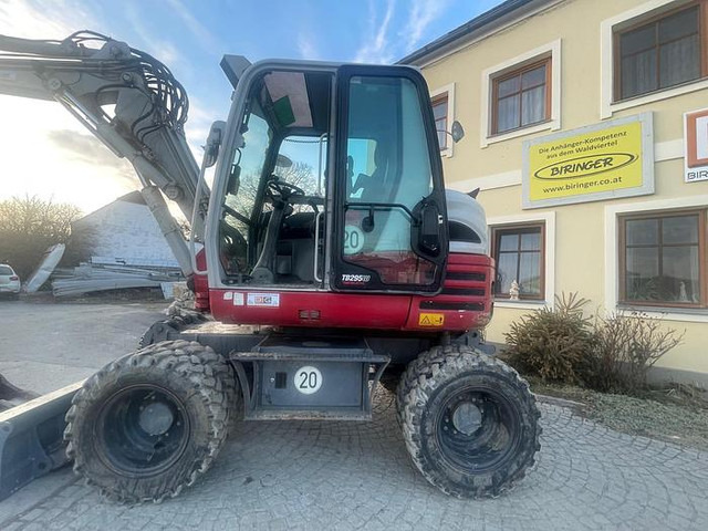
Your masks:
<instances>
[{"instance_id":1,"label":"pale yellow building with brown windows and yellow BIRINGER sign","mask_svg":"<svg viewBox=\"0 0 708 531\"><path fill-rule=\"evenodd\" d=\"M488 340L576 291L685 330L654 375L708 382L708 0L508 0L400 62L466 129L441 156L487 211Z\"/></svg>"}]
</instances>

